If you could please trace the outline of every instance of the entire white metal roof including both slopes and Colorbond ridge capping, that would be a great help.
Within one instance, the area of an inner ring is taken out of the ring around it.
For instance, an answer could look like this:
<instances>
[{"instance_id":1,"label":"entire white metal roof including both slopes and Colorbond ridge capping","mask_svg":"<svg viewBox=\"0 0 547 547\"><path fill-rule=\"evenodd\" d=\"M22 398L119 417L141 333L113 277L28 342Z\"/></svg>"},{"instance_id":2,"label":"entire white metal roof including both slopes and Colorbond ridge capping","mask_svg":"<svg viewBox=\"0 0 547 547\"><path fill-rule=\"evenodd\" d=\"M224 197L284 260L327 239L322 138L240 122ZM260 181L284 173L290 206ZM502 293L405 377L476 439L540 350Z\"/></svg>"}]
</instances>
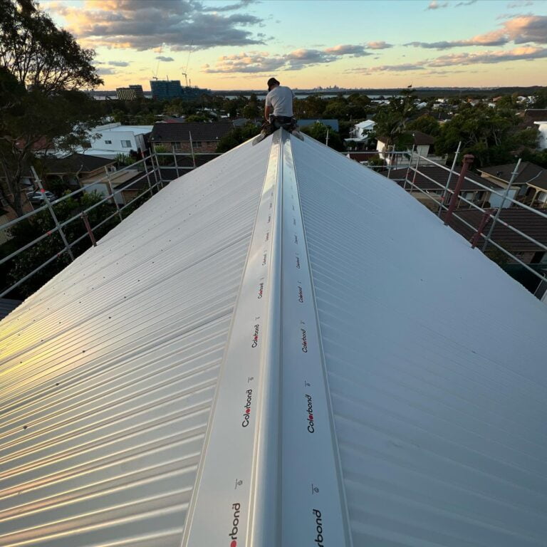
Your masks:
<instances>
[{"instance_id":1,"label":"entire white metal roof including both slopes and Colorbond ridge capping","mask_svg":"<svg viewBox=\"0 0 547 547\"><path fill-rule=\"evenodd\" d=\"M397 184L247 142L0 323L0 544L544 547L546 326Z\"/></svg>"}]
</instances>

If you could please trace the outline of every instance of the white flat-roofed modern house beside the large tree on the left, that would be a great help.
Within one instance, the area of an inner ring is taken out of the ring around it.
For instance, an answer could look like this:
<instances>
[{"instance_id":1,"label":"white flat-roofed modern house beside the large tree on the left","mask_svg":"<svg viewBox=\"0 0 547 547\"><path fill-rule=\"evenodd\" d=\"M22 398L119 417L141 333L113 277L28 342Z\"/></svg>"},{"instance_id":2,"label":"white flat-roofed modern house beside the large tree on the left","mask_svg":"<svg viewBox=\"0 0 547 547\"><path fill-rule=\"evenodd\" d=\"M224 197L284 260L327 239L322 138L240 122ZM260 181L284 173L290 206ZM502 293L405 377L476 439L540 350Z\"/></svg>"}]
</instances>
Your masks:
<instances>
[{"instance_id":1,"label":"white flat-roofed modern house beside the large tree on the left","mask_svg":"<svg viewBox=\"0 0 547 547\"><path fill-rule=\"evenodd\" d=\"M145 152L152 125L122 125L107 123L98 125L89 132L91 146L81 153L114 160L118 154L128 155L130 151Z\"/></svg>"}]
</instances>

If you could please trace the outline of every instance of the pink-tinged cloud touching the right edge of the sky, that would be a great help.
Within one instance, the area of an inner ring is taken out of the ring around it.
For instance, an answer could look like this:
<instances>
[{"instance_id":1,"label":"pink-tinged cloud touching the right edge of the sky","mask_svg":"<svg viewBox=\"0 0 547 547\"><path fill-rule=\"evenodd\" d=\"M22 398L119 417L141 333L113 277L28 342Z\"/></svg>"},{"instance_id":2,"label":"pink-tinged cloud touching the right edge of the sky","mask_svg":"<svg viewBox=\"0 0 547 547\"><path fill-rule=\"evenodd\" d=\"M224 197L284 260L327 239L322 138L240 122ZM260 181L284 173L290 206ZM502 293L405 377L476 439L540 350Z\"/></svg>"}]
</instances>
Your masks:
<instances>
[{"instance_id":1,"label":"pink-tinged cloud touching the right edge of the sky","mask_svg":"<svg viewBox=\"0 0 547 547\"><path fill-rule=\"evenodd\" d=\"M439 42L410 42L405 46L429 49L449 49L466 46L503 46L506 43L547 43L547 16L523 15L514 16L504 21L497 31L477 34L465 40Z\"/></svg>"}]
</instances>

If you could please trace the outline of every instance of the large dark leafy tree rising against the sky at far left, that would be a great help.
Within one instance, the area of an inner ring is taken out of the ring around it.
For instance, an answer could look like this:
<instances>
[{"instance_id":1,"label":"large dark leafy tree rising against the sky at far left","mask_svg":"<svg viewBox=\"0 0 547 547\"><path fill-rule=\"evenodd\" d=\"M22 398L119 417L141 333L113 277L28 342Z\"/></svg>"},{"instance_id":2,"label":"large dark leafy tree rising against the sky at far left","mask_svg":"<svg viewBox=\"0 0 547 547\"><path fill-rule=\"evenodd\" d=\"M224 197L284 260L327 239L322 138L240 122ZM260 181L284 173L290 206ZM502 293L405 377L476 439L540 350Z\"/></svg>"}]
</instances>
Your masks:
<instances>
[{"instance_id":1,"label":"large dark leafy tree rising against the sky at far left","mask_svg":"<svg viewBox=\"0 0 547 547\"><path fill-rule=\"evenodd\" d=\"M78 89L102 80L93 51L56 28L33 0L0 0L0 197L23 213L21 179L36 150L71 150L98 124L96 101Z\"/></svg>"}]
</instances>

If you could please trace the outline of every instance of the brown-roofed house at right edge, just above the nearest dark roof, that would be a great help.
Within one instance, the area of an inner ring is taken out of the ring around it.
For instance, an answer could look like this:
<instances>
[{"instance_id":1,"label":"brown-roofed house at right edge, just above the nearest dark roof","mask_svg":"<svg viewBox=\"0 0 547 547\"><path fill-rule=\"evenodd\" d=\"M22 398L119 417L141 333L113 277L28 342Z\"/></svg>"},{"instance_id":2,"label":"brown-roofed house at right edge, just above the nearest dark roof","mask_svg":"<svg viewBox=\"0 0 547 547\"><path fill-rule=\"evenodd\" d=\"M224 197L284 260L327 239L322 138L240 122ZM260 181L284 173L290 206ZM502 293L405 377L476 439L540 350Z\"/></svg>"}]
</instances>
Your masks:
<instances>
[{"instance_id":1,"label":"brown-roofed house at right edge, just above the nearest dark roof","mask_svg":"<svg viewBox=\"0 0 547 547\"><path fill-rule=\"evenodd\" d=\"M501 188L506 188L516 169L516 164L481 167L478 171ZM514 194L532 207L547 207L547 169L531 162L521 162L519 172L511 184Z\"/></svg>"}]
</instances>

